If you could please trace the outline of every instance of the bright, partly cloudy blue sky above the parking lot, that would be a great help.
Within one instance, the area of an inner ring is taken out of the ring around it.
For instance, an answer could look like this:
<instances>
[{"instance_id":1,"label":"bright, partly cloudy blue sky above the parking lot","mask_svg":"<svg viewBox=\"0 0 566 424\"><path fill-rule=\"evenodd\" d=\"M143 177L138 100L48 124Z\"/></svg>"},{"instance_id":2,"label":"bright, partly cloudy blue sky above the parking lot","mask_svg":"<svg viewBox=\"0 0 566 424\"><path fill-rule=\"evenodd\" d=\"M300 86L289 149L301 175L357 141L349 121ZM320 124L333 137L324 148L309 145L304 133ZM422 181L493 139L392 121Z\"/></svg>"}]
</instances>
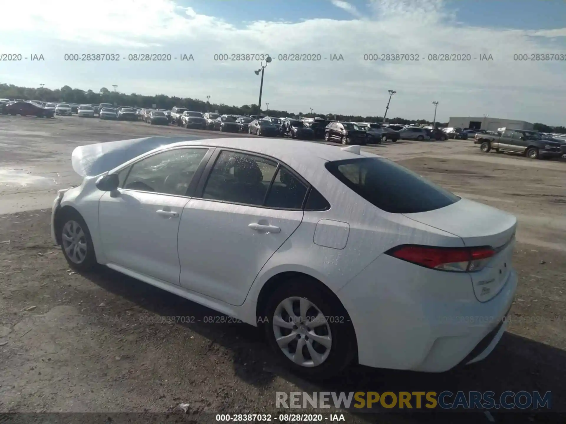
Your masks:
<instances>
[{"instance_id":1,"label":"bright, partly cloudy blue sky above the parking lot","mask_svg":"<svg viewBox=\"0 0 566 424\"><path fill-rule=\"evenodd\" d=\"M27 0L3 4L0 53L43 54L44 62L0 62L0 82L164 93L229 105L258 101L259 60L270 54L269 109L388 116L483 116L566 125L566 2L551 0ZM14 37L14 34L18 34ZM69 62L65 54L118 54L119 62ZM192 54L194 61L135 62L130 54ZM286 53L333 54L339 62L289 62ZM419 61L364 60L411 54ZM492 60L438 62L433 54ZM126 59L124 59L126 58ZM282 59L282 57L281 57Z\"/></svg>"}]
</instances>

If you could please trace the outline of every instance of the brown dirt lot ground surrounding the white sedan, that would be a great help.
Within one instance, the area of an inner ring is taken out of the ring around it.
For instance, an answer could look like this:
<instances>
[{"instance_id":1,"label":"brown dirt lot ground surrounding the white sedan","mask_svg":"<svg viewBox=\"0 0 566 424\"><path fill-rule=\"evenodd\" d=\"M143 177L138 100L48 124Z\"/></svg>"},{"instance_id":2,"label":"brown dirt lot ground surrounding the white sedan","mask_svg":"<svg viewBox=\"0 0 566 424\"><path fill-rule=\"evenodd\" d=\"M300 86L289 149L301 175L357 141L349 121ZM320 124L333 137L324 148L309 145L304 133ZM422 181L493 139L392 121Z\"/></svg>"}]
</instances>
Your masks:
<instances>
[{"instance_id":1,"label":"brown dirt lot ground surrounding the white sedan","mask_svg":"<svg viewBox=\"0 0 566 424\"><path fill-rule=\"evenodd\" d=\"M0 412L174 412L189 403L189 413L278 414L276 391L365 390L552 391L553 410L566 412L564 159L481 154L470 141L369 147L455 193L516 215L520 287L508 332L479 364L444 374L356 366L340 379L314 384L282 370L255 328L205 323L218 313L110 270L74 274L52 245L54 190L80 181L70 167L75 146L186 133L217 136L143 123L0 116L0 204L15 212L0 215ZM187 315L197 322L162 322ZM528 418L491 414L496 422ZM430 418L346 413L347 422ZM488 422L483 412L434 418ZM560 422L558 415L529 418Z\"/></svg>"}]
</instances>

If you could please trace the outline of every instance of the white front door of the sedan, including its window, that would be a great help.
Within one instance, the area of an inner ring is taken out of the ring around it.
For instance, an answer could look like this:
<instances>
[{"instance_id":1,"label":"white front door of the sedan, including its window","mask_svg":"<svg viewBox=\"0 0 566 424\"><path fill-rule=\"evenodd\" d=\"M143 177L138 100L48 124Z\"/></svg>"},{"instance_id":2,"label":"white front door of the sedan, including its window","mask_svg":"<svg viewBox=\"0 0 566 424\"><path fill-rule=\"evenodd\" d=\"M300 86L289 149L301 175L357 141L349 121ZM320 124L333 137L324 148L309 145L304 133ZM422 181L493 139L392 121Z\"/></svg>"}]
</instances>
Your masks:
<instances>
[{"instance_id":1,"label":"white front door of the sedan, including its window","mask_svg":"<svg viewBox=\"0 0 566 424\"><path fill-rule=\"evenodd\" d=\"M166 150L119 173L121 185L100 199L100 238L110 263L179 284L177 233L192 176L206 148Z\"/></svg>"}]
</instances>

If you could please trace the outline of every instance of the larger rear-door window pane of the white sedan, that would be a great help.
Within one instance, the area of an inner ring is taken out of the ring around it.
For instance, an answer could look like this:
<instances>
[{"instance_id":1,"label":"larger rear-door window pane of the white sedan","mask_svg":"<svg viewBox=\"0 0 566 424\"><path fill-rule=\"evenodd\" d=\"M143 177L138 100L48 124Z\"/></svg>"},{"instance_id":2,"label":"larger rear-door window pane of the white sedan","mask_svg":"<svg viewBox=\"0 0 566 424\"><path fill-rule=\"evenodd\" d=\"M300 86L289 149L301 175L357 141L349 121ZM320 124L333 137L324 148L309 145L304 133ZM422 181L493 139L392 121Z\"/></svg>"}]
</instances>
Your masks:
<instances>
[{"instance_id":1,"label":"larger rear-door window pane of the white sedan","mask_svg":"<svg viewBox=\"0 0 566 424\"><path fill-rule=\"evenodd\" d=\"M203 198L262 206L276 170L277 163L269 159L224 150L208 177Z\"/></svg>"}]
</instances>

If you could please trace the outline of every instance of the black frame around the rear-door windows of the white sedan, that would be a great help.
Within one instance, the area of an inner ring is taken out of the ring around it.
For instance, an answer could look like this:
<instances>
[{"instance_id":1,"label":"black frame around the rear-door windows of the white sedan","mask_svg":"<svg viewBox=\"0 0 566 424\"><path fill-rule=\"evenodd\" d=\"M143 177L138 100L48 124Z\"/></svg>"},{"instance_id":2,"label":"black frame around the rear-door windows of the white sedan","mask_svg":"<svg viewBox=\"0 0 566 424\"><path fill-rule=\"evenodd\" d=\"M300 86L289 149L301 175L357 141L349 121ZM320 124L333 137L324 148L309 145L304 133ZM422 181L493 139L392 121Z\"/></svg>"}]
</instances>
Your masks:
<instances>
[{"instance_id":1,"label":"black frame around the rear-door windows of the white sedan","mask_svg":"<svg viewBox=\"0 0 566 424\"><path fill-rule=\"evenodd\" d=\"M247 203L239 203L239 202L229 202L227 200L216 200L216 199L207 199L203 197L204 194L204 189L208 184L208 179L211 176L211 171L212 168L216 165L216 162L218 160L218 157L220 157L220 154L222 152L234 152L234 153L241 153L241 154L247 154L247 155L251 155L251 156L257 156L260 158L264 158L264 159L268 159L269 161L275 162L277 163L277 168L275 170L275 172L273 173L273 177L271 178L271 182L269 183L269 186L267 188L267 192L265 192L265 196L263 198L263 204L262 205L250 205ZM269 206L264 206L265 204L265 200L267 200L267 196L269 194L269 190L271 189L272 185L273 185L273 181L275 180L275 177L277 176L277 171L281 168L284 167L285 171L288 171L289 174L293 175L295 178L297 178L301 184L305 185L305 187L307 188L307 191L305 192L305 196L303 197L303 202L301 204L301 207L296 208L296 207L269 207ZM257 152L250 152L249 150L242 150L242 149L232 149L232 148L217 148L215 150L215 152L213 152L213 154L211 155L211 158L209 158L207 166L204 168L203 170L203 174L200 176L200 181L195 189L195 192L193 193L192 198L197 198L200 200L205 200L207 202L217 202L217 203L225 203L225 204L229 204L229 205L238 205L238 206L248 206L248 207L259 207L261 209L271 209L271 210L295 210L295 211L299 211L299 210L304 210L305 209L305 205L306 205L306 201L308 199L308 194L310 193L312 185L310 183L308 183L307 180L305 180L301 175L299 175L299 173L297 171L295 171L293 168L291 168L289 165L287 165L285 162L280 161L277 158L274 158L272 156L266 155L266 154L262 154L262 153L257 153Z\"/></svg>"}]
</instances>

